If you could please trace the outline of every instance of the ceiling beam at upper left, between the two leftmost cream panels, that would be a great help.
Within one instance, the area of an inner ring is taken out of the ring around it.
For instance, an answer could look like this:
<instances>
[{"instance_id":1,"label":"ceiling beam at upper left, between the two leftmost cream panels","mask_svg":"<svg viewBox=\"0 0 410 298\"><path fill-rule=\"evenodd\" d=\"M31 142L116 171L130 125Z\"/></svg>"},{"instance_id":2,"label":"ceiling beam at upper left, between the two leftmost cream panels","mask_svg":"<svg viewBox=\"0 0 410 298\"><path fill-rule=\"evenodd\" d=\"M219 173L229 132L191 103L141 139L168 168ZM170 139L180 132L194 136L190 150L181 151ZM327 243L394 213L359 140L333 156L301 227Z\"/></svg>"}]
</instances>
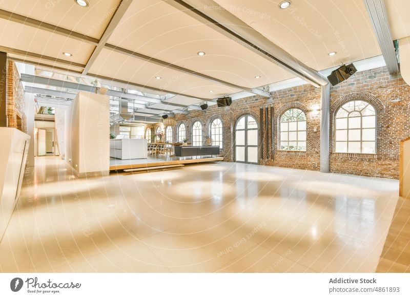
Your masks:
<instances>
[{"instance_id":1,"label":"ceiling beam at upper left, between the two leftmost cream panels","mask_svg":"<svg viewBox=\"0 0 410 298\"><path fill-rule=\"evenodd\" d=\"M92 45L98 45L98 39L96 38L93 38L93 37L90 37L90 36L87 36L81 33L77 33L74 31L70 31L70 30L67 30L67 29L64 29L58 26L48 24L48 23L44 23L34 18L30 18L24 15L19 15L19 14L9 12L3 9L0 9L0 18L9 20L11 22L15 22L18 24L30 26L35 29L41 29L41 30L48 31L54 34L59 34L62 36L70 37L70 38L73 38L79 41L88 42L89 44L92 44Z\"/></svg>"}]
</instances>

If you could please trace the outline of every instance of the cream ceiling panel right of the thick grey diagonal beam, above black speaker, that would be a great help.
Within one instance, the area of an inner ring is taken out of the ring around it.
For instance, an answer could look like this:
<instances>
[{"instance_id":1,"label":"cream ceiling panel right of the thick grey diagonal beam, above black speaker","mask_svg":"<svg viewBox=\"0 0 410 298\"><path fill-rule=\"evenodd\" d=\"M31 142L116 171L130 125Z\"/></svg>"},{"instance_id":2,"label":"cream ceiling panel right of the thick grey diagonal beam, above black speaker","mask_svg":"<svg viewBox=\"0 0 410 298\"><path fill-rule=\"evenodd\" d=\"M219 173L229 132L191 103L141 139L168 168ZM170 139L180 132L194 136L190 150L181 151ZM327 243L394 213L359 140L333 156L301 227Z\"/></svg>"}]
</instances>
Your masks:
<instances>
[{"instance_id":1,"label":"cream ceiling panel right of the thick grey diagonal beam, above black speaker","mask_svg":"<svg viewBox=\"0 0 410 298\"><path fill-rule=\"evenodd\" d=\"M279 0L215 2L315 70L380 54L362 0L293 0L287 9Z\"/></svg>"}]
</instances>

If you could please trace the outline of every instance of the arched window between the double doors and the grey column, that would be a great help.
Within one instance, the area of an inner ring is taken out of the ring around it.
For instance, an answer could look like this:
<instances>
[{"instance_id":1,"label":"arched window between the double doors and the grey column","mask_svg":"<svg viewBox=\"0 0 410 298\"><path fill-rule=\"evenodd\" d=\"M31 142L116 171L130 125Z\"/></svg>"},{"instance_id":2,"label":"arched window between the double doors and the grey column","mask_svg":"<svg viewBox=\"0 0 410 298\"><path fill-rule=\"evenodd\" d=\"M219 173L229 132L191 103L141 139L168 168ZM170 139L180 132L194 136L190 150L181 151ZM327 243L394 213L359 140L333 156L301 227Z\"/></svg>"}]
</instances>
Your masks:
<instances>
[{"instance_id":1,"label":"arched window between the double doors and the grey column","mask_svg":"<svg viewBox=\"0 0 410 298\"><path fill-rule=\"evenodd\" d=\"M280 150L306 151L306 115L292 108L280 117Z\"/></svg>"}]
</instances>

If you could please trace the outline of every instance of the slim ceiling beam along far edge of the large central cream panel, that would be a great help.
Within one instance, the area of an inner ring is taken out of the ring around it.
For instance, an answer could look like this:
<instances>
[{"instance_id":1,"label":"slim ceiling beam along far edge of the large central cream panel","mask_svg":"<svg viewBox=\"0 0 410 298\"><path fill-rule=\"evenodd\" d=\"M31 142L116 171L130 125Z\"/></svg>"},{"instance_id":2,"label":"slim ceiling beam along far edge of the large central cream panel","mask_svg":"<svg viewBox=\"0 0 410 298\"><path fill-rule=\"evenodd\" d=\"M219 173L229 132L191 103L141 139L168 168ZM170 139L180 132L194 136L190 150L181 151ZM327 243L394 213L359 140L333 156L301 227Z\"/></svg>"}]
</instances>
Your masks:
<instances>
[{"instance_id":1,"label":"slim ceiling beam along far edge of the large central cream panel","mask_svg":"<svg viewBox=\"0 0 410 298\"><path fill-rule=\"evenodd\" d=\"M186 74L189 74L189 75L192 75L192 76L201 78L201 79L206 79L206 80L209 80L209 81L214 81L214 82L220 83L220 84L222 84L222 85L224 85L224 86L228 86L228 87L231 87L231 88L234 88L234 89L238 89L238 90L248 91L248 92L254 93L254 89L252 89L252 88L242 87L242 86L239 86L239 85L237 85L237 84L230 83L230 82L227 82L227 81L223 81L223 80L220 80L220 79L218 79L218 78L214 78L214 77L208 76L208 75L206 75L206 74L202 74L202 73L199 73L199 72L196 72L196 71L187 69L187 68L183 68L183 67L174 65L174 64L172 64L172 63L169 63L169 62L166 62L166 61L162 61L162 60L159 60L159 59L156 59L156 58L153 58L153 57L144 55L144 54L140 54L140 53L137 53L137 52L133 52L133 51L130 51L130 50L127 50L127 49L123 49L123 48L120 48L120 47L116 47L116 46L113 46L113 45L110 45L110 44L106 44L106 45L105 45L105 48L110 49L110 50L115 51L115 52L118 52L118 53L121 53L121 54L125 54L125 55L128 55L128 56L136 57L136 58L138 58L138 59L141 59L141 60L144 60L144 61L147 61L147 62L156 64L156 65L161 66L161 67L165 67L165 68L169 68L169 69L172 69L172 70L175 70L175 71L178 71L178 72L186 73ZM269 93L263 92L263 91L262 91L262 92L258 92L258 93L254 93L254 94L262 95L262 96L265 96L265 97L269 97L269 96L270 96ZM205 99L203 99L203 100L215 102L215 99L207 99L207 98L205 98Z\"/></svg>"}]
</instances>

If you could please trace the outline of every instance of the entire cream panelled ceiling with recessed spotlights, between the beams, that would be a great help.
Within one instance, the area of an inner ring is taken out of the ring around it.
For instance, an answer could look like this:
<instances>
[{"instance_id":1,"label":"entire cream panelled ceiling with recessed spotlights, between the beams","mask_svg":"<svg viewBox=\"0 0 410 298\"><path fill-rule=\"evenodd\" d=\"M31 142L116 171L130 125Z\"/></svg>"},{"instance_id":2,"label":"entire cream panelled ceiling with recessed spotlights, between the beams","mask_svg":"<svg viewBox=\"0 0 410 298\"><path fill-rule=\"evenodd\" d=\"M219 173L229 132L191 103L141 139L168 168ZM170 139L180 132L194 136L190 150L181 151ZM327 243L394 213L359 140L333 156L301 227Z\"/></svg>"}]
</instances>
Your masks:
<instances>
[{"instance_id":1,"label":"entire cream panelled ceiling with recessed spotlights, between the beams","mask_svg":"<svg viewBox=\"0 0 410 298\"><path fill-rule=\"evenodd\" d=\"M73 0L0 0L0 9L100 39L120 1L88 1L90 6L81 8ZM279 0L215 1L315 70L380 55L362 0L292 0L292 6L286 10L279 9ZM410 11L410 1L385 1L393 37L410 35L410 19L406 16ZM84 69L81 65L87 64L95 50L95 45L89 42L35 29L28 24L0 19L0 28L1 47L38 55L30 57L12 53L10 56L51 67L81 72ZM294 77L273 62L160 0L134 0L107 42L244 89ZM204 51L206 55L199 57L198 51ZM330 57L327 54L331 51L337 54ZM63 52L70 52L73 57L66 57ZM53 62L44 56L66 62ZM89 73L124 81L120 84L128 89L160 95L168 92L190 95L193 98L179 95L168 100L187 105L201 102L195 98L212 99L242 91L107 48L97 55ZM256 79L256 75L261 77ZM131 87L127 82L146 88ZM154 92L150 87L165 91Z\"/></svg>"}]
</instances>

